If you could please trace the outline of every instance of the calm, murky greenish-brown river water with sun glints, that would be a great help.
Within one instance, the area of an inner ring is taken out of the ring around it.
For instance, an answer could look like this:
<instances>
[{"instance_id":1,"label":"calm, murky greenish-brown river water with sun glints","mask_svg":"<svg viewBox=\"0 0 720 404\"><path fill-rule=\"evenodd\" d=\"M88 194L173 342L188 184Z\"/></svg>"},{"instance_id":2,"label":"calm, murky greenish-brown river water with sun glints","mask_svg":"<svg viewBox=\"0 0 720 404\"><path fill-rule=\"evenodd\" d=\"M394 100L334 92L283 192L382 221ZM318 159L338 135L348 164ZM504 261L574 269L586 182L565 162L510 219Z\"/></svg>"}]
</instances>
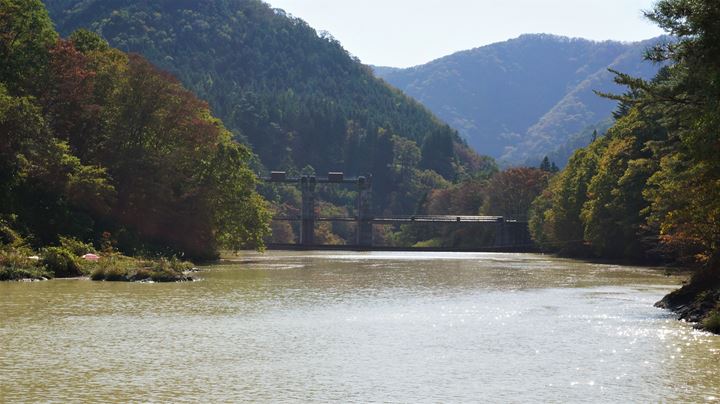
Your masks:
<instances>
[{"instance_id":1,"label":"calm, murky greenish-brown river water with sun glints","mask_svg":"<svg viewBox=\"0 0 720 404\"><path fill-rule=\"evenodd\" d=\"M198 282L0 283L0 401L702 402L720 337L662 271L270 252Z\"/></svg>"}]
</instances>

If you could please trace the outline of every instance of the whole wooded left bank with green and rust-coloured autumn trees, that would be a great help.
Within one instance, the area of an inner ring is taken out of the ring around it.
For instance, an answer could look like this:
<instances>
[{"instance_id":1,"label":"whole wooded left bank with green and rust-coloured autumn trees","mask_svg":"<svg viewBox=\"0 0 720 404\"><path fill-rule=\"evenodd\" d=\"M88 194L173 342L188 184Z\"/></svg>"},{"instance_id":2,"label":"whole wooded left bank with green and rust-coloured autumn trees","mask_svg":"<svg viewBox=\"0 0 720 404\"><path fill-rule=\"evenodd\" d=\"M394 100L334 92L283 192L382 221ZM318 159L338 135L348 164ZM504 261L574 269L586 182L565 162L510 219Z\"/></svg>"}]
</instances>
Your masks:
<instances>
[{"instance_id":1,"label":"whole wooded left bank with green and rust-coloured autumn trees","mask_svg":"<svg viewBox=\"0 0 720 404\"><path fill-rule=\"evenodd\" d=\"M0 2L0 269L73 239L198 259L261 246L251 156L141 56L61 38L40 0Z\"/></svg>"}]
</instances>

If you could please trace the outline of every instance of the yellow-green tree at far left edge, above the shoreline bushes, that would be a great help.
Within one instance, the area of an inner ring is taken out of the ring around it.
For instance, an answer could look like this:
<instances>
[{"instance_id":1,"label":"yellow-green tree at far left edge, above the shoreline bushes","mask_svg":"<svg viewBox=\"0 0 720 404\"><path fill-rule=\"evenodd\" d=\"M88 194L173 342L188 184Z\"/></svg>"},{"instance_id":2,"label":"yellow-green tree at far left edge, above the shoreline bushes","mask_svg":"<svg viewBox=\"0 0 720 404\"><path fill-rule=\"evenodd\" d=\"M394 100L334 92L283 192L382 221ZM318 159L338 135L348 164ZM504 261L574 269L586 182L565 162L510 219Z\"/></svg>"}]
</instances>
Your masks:
<instances>
[{"instance_id":1,"label":"yellow-green tree at far left edge, above the shoreline bushes","mask_svg":"<svg viewBox=\"0 0 720 404\"><path fill-rule=\"evenodd\" d=\"M0 85L0 214L14 215L38 243L60 234L87 236L92 219L114 198L105 169L82 164L56 139L30 97L12 97Z\"/></svg>"}]
</instances>

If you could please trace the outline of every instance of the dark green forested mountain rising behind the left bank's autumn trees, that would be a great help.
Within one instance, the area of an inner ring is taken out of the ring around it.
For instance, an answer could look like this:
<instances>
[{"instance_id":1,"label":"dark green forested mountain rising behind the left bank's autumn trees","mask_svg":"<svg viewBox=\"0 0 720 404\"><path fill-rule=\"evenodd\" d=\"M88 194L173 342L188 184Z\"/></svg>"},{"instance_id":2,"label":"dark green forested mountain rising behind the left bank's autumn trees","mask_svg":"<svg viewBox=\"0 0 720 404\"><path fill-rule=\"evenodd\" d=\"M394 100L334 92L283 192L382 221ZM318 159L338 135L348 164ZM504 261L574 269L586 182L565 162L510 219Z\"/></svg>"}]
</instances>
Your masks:
<instances>
[{"instance_id":1,"label":"dark green forested mountain rising behind the left bank's autumn trees","mask_svg":"<svg viewBox=\"0 0 720 404\"><path fill-rule=\"evenodd\" d=\"M411 168L455 179L477 165L455 130L332 37L259 0L45 3L62 34L88 28L176 75L267 169L372 173L384 196L397 191L392 166L402 139L421 153L403 162Z\"/></svg>"}]
</instances>

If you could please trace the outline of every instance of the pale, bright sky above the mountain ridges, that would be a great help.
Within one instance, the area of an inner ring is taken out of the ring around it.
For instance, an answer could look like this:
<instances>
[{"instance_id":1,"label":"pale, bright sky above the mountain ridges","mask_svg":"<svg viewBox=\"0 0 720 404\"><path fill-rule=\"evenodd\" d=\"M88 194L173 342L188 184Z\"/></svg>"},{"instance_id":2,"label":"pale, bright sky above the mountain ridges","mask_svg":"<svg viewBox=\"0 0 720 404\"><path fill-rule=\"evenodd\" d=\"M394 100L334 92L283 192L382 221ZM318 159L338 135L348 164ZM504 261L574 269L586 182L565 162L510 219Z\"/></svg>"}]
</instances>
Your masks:
<instances>
[{"instance_id":1,"label":"pale, bright sky above the mountain ridges","mask_svg":"<svg viewBox=\"0 0 720 404\"><path fill-rule=\"evenodd\" d=\"M621 41L663 34L642 15L655 0L265 1L379 66L415 66L527 33Z\"/></svg>"}]
</instances>

